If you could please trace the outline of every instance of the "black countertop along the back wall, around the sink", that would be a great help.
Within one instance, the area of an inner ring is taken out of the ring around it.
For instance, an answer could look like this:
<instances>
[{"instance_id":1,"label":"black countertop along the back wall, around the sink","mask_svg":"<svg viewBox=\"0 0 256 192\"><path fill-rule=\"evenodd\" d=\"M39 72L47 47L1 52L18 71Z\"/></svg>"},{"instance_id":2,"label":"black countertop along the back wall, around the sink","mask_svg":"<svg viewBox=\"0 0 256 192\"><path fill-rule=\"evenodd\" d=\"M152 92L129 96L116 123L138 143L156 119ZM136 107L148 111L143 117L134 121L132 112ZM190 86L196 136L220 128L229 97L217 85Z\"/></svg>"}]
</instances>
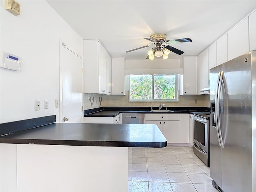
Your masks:
<instances>
[{"instance_id":1,"label":"black countertop along the back wall, around the sink","mask_svg":"<svg viewBox=\"0 0 256 192\"><path fill-rule=\"evenodd\" d=\"M111 108L111 107L102 107L102 108L96 108L91 110L84 110L84 117L115 117L120 113L190 113L190 114L201 114L205 112L209 112L209 108L206 107L168 107L168 110L171 110L170 112L151 112L150 107L132 107L134 110L130 109L131 107L124 107L123 109L121 107ZM165 108L165 107L164 107ZM140 110L138 110L140 109ZM157 109L156 107L153 108L154 110Z\"/></svg>"}]
</instances>

